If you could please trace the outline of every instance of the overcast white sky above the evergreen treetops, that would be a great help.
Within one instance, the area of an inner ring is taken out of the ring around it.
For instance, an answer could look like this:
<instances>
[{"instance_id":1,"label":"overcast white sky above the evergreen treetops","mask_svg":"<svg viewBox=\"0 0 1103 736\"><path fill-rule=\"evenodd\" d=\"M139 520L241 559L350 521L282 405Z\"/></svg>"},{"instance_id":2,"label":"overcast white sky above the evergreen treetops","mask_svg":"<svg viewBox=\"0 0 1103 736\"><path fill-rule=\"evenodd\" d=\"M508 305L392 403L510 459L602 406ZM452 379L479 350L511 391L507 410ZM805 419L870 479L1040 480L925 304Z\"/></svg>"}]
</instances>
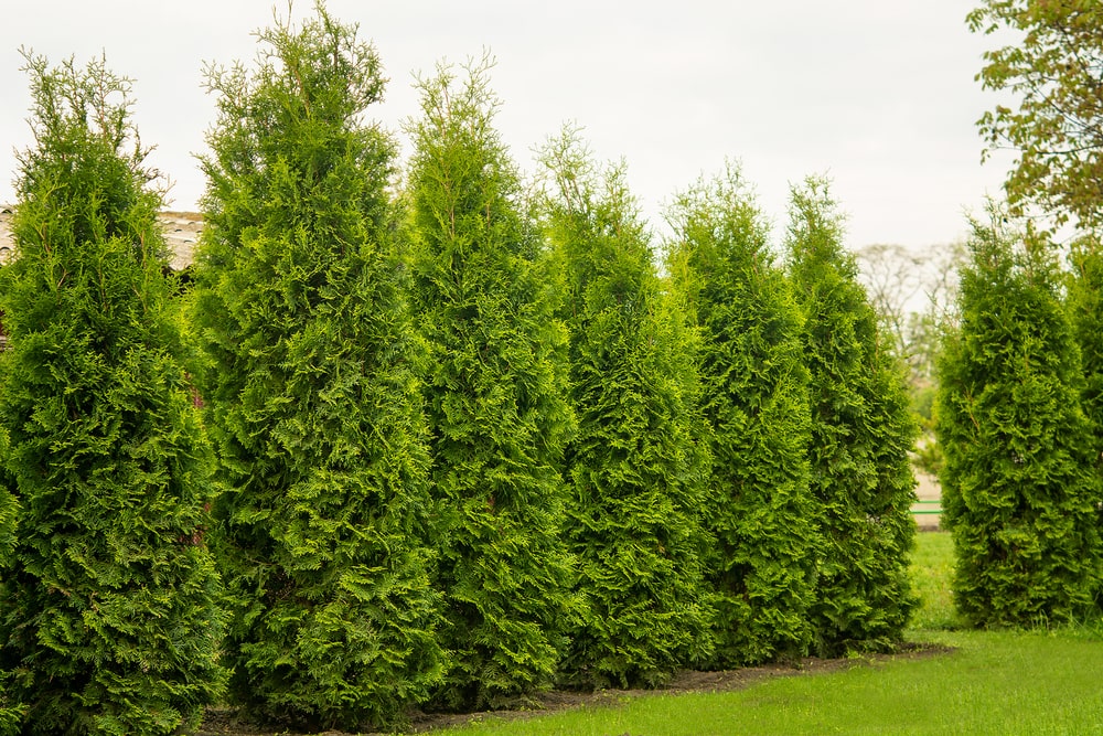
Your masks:
<instances>
[{"instance_id":1,"label":"overcast white sky above the evergreen treetops","mask_svg":"<svg viewBox=\"0 0 1103 736\"><path fill-rule=\"evenodd\" d=\"M979 162L975 120L993 98L973 81L990 44L965 28L973 0L330 0L374 41L390 82L375 116L397 130L418 110L413 74L489 49L499 127L517 161L576 121L602 159L623 157L657 226L661 204L725 157L742 161L775 234L790 182L826 173L848 243L911 248L966 232L998 195L1006 159ZM214 100L202 62L249 61L270 0L4 0L0 13L0 202L13 148L30 143L20 45L82 64L106 51L135 78L136 121L175 181L172 206L203 191ZM286 12L280 2L279 12ZM312 11L297 0L295 17Z\"/></svg>"}]
</instances>

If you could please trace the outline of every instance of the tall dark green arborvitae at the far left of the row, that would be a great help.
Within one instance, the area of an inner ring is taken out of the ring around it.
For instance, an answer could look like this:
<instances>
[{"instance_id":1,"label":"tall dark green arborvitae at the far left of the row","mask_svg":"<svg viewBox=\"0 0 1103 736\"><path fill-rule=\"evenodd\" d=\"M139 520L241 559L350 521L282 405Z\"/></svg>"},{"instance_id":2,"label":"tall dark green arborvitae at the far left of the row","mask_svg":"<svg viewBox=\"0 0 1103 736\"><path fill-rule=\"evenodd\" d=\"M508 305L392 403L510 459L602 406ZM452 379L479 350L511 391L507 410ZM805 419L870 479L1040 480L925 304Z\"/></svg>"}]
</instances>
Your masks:
<instances>
[{"instance_id":1,"label":"tall dark green arborvitae at the far left of the row","mask_svg":"<svg viewBox=\"0 0 1103 736\"><path fill-rule=\"evenodd\" d=\"M0 476L20 502L0 670L26 733L170 734L218 697L211 457L174 351L130 82L25 54L35 142L0 269Z\"/></svg>"}]
</instances>

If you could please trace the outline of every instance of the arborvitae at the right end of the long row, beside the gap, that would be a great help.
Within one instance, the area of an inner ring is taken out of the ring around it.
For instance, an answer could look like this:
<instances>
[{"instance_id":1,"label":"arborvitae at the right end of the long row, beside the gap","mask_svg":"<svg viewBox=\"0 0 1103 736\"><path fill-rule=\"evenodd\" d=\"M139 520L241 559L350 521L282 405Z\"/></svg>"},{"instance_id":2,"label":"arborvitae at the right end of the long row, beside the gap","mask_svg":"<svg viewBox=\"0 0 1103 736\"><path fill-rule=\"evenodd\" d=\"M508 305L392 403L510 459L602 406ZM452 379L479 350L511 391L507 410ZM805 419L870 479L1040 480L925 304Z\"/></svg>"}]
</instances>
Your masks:
<instances>
[{"instance_id":1,"label":"arborvitae at the right end of the long row, beside the gap","mask_svg":"<svg viewBox=\"0 0 1103 736\"><path fill-rule=\"evenodd\" d=\"M792 193L788 244L804 311L810 371L812 495L823 552L812 610L814 650L835 655L898 641L915 605L908 553L915 534L908 451L915 436L903 366L843 249L827 184Z\"/></svg>"}]
</instances>

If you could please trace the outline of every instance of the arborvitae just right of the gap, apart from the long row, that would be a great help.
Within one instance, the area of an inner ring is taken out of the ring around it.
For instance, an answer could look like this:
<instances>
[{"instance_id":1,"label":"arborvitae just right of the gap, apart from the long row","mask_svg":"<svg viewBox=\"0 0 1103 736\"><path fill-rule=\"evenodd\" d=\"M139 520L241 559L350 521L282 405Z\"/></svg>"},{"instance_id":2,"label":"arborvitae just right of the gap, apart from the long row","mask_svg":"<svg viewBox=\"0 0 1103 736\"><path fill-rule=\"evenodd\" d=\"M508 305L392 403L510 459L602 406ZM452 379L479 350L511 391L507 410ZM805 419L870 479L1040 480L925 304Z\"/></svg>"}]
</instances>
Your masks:
<instances>
[{"instance_id":1,"label":"arborvitae just right of the gap, apart from the long row","mask_svg":"<svg viewBox=\"0 0 1103 736\"><path fill-rule=\"evenodd\" d=\"M935 430L954 600L976 626L1073 620L1099 591L1100 479L1059 282L1035 234L974 223Z\"/></svg>"}]
</instances>

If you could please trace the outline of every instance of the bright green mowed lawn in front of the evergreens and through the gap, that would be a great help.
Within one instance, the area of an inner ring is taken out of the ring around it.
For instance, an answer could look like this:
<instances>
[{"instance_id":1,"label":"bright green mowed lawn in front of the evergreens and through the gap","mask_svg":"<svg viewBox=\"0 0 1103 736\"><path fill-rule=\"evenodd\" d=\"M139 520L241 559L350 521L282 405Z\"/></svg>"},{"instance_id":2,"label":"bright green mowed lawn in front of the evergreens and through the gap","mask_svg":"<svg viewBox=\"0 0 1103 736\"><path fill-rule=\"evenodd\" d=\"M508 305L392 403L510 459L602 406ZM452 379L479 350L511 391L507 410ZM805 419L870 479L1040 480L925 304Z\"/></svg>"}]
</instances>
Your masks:
<instances>
[{"instance_id":1,"label":"bright green mowed lawn in front of the evergreens and through the gap","mask_svg":"<svg viewBox=\"0 0 1103 736\"><path fill-rule=\"evenodd\" d=\"M526 719L483 716L441 736L705 734L1103 734L1103 627L963 631L949 594L952 544L919 536L923 602L908 638L952 651L854 660L726 693L655 694Z\"/></svg>"}]
</instances>

